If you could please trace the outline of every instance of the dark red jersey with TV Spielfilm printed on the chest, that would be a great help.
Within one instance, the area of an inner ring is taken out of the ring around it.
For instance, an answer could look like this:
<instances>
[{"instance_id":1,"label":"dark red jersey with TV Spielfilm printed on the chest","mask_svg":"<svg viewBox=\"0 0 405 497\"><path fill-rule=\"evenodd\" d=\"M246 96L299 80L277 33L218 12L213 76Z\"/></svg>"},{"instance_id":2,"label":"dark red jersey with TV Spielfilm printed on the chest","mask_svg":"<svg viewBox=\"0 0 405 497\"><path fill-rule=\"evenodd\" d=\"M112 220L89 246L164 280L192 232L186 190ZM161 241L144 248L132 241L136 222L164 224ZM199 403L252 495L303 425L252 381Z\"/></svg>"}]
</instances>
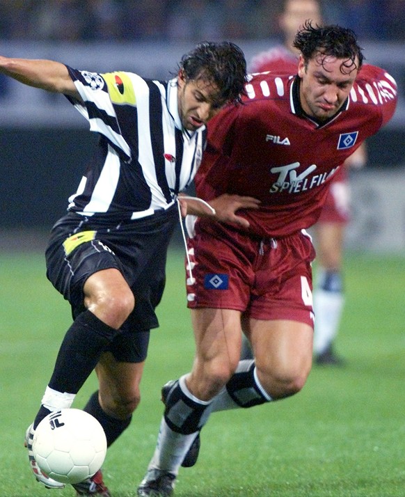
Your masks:
<instances>
[{"instance_id":1,"label":"dark red jersey with TV Spielfilm printed on the chest","mask_svg":"<svg viewBox=\"0 0 405 497\"><path fill-rule=\"evenodd\" d=\"M299 78L257 74L244 104L230 105L208 125L208 145L196 175L205 200L221 194L253 196L259 210L240 214L249 232L281 237L318 219L333 175L368 136L392 117L397 85L365 65L342 109L322 123L305 115Z\"/></svg>"}]
</instances>

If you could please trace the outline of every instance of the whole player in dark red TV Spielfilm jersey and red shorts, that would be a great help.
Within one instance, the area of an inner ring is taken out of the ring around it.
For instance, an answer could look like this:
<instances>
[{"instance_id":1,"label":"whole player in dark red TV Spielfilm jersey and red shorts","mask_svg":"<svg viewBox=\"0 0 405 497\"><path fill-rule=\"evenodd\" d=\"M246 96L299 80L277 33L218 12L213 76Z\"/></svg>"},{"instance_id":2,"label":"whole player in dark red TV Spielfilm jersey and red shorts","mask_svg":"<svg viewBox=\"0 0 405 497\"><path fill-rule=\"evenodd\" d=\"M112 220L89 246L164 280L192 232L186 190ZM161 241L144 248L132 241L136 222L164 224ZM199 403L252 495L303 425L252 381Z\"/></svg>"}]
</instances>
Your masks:
<instances>
[{"instance_id":1,"label":"whole player in dark red TV Spielfilm jersey and red shorts","mask_svg":"<svg viewBox=\"0 0 405 497\"><path fill-rule=\"evenodd\" d=\"M187 224L196 354L191 372L162 388L164 416L138 496L173 494L212 412L284 399L310 373L315 251L305 230L345 159L392 117L397 85L362 65L350 29L305 23L294 47L294 72L257 74L244 105L209 123L198 196L243 194L260 207L239 212L247 229L203 218ZM253 360L239 360L242 328Z\"/></svg>"}]
</instances>

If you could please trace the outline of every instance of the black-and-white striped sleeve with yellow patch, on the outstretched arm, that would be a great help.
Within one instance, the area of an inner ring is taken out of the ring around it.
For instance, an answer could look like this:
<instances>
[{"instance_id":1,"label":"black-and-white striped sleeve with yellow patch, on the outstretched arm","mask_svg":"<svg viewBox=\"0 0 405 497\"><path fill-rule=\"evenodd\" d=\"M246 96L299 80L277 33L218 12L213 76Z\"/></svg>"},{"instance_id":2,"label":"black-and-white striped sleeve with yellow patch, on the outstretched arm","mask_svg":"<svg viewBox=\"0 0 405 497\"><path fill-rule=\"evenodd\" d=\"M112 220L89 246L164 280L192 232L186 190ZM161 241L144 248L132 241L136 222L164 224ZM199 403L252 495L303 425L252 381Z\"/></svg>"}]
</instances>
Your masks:
<instances>
[{"instance_id":1,"label":"black-and-white striped sleeve with yellow patch, on the outstretched arm","mask_svg":"<svg viewBox=\"0 0 405 497\"><path fill-rule=\"evenodd\" d=\"M131 159L131 149L120 131L120 123L113 102L123 100L124 95L120 93L120 83L125 79L125 98L132 98L135 104L134 90L129 84L130 79L125 78L126 73L88 72L72 69L67 66L70 77L81 96L82 102L69 100L74 107L90 123L90 131L102 134L109 140L113 148L118 150L125 159ZM121 74L121 77L117 75ZM131 90L132 88L132 90ZM130 96L131 95L131 96Z\"/></svg>"}]
</instances>

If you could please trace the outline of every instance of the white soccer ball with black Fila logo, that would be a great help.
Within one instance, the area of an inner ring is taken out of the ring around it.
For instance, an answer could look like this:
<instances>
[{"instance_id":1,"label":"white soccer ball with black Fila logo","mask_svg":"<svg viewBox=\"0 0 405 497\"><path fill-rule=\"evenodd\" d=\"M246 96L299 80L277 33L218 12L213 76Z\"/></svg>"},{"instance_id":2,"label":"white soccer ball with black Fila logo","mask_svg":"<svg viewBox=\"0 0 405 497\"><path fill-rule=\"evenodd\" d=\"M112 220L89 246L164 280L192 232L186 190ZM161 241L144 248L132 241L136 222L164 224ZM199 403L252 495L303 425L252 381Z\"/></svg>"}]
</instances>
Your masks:
<instances>
[{"instance_id":1,"label":"white soccer ball with black Fila logo","mask_svg":"<svg viewBox=\"0 0 405 497\"><path fill-rule=\"evenodd\" d=\"M106 457L102 425L81 409L61 409L44 418L33 436L33 456L40 469L62 483L93 476Z\"/></svg>"}]
</instances>

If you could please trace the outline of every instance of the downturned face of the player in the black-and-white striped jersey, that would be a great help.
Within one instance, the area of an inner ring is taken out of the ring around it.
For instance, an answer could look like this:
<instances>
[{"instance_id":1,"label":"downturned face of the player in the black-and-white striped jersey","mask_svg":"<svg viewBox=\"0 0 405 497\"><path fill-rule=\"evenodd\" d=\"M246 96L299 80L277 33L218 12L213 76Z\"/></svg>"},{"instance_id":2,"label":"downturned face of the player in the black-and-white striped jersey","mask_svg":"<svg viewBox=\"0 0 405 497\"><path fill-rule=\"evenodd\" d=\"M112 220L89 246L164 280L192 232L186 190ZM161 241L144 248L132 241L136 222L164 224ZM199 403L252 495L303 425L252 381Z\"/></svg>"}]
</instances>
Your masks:
<instances>
[{"instance_id":1,"label":"downturned face of the player in the black-and-white striped jersey","mask_svg":"<svg viewBox=\"0 0 405 497\"><path fill-rule=\"evenodd\" d=\"M218 88L205 79L186 80L180 73L177 84L179 116L189 131L205 125L225 104L218 100Z\"/></svg>"}]
</instances>

